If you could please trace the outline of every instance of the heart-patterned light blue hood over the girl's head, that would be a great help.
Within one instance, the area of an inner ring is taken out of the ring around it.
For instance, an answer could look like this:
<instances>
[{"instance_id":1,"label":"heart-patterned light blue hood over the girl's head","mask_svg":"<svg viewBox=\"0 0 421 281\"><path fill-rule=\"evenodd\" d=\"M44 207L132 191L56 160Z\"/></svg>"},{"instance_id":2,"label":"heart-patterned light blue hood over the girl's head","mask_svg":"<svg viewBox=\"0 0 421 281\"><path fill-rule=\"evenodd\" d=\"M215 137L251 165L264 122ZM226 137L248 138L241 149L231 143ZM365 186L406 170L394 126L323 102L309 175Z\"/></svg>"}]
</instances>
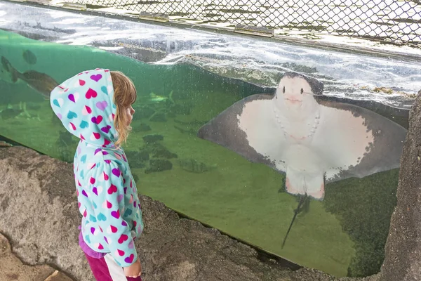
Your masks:
<instances>
[{"instance_id":1,"label":"heart-patterned light blue hood over the girl's head","mask_svg":"<svg viewBox=\"0 0 421 281\"><path fill-rule=\"evenodd\" d=\"M51 91L50 104L67 131L92 145L114 147L116 105L109 70L97 68L67 79Z\"/></svg>"}]
</instances>

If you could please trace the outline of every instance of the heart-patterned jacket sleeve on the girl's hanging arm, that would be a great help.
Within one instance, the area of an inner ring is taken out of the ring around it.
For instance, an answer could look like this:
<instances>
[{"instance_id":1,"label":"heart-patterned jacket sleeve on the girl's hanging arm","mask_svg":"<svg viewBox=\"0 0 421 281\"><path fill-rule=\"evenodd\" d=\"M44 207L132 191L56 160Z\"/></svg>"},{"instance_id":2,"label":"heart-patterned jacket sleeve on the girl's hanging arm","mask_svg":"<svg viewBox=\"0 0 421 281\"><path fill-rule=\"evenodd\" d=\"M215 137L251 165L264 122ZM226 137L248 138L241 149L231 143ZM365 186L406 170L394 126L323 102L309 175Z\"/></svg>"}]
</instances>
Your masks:
<instances>
[{"instance_id":1,"label":"heart-patterned jacket sleeve on the girl's hanging arm","mask_svg":"<svg viewBox=\"0 0 421 281\"><path fill-rule=\"evenodd\" d=\"M95 169L96 168L96 169ZM125 187L121 168L114 161L104 161L93 168L91 178L91 190L96 188L93 196L97 208L95 216L100 226L101 234L112 257L119 266L131 266L137 259L138 254L134 247L131 229L121 216L124 214ZM100 188L98 188L100 187ZM99 192L101 191L101 192Z\"/></svg>"}]
</instances>

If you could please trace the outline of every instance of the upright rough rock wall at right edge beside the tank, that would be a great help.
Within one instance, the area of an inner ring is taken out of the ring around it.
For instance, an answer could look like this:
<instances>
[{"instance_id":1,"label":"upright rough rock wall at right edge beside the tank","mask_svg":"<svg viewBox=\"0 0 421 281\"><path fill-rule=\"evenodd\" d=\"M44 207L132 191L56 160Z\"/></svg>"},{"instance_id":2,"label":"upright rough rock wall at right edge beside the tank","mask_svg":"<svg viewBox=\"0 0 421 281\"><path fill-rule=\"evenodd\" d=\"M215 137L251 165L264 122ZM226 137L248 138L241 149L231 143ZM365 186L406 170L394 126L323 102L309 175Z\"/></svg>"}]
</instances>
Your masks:
<instances>
[{"instance_id":1,"label":"upright rough rock wall at right edge beside the tank","mask_svg":"<svg viewBox=\"0 0 421 281\"><path fill-rule=\"evenodd\" d=\"M421 280L421 90L410 110L380 280Z\"/></svg>"}]
</instances>

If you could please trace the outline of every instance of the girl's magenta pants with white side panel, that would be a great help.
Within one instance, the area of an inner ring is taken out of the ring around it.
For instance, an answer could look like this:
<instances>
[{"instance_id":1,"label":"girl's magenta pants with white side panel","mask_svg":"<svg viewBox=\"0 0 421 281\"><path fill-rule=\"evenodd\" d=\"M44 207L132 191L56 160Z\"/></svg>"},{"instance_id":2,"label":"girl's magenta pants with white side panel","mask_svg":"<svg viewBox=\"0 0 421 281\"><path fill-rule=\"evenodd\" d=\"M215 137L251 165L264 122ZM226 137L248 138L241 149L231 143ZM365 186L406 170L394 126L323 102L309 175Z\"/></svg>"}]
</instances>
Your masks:
<instances>
[{"instance_id":1,"label":"girl's magenta pants with white side panel","mask_svg":"<svg viewBox=\"0 0 421 281\"><path fill-rule=\"evenodd\" d=\"M93 276L97 281L142 281L142 278L124 276L123 268L118 266L110 254L95 259L85 254Z\"/></svg>"}]
</instances>

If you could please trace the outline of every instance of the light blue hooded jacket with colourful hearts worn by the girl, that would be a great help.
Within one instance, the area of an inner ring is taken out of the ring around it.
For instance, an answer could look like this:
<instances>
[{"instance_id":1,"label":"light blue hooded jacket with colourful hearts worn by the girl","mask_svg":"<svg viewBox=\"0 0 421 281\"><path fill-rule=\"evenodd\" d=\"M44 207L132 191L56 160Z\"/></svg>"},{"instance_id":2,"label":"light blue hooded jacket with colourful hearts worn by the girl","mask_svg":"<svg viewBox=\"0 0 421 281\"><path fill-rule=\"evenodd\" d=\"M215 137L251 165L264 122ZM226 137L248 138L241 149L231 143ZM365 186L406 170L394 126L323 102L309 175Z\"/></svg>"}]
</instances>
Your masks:
<instances>
[{"instance_id":1,"label":"light blue hooded jacket with colourful hearts worn by the girl","mask_svg":"<svg viewBox=\"0 0 421 281\"><path fill-rule=\"evenodd\" d=\"M113 96L109 70L95 69L55 87L50 103L67 131L81 139L73 170L83 240L126 267L138 258L133 238L140 236L143 223L126 155L114 145L118 135Z\"/></svg>"}]
</instances>

